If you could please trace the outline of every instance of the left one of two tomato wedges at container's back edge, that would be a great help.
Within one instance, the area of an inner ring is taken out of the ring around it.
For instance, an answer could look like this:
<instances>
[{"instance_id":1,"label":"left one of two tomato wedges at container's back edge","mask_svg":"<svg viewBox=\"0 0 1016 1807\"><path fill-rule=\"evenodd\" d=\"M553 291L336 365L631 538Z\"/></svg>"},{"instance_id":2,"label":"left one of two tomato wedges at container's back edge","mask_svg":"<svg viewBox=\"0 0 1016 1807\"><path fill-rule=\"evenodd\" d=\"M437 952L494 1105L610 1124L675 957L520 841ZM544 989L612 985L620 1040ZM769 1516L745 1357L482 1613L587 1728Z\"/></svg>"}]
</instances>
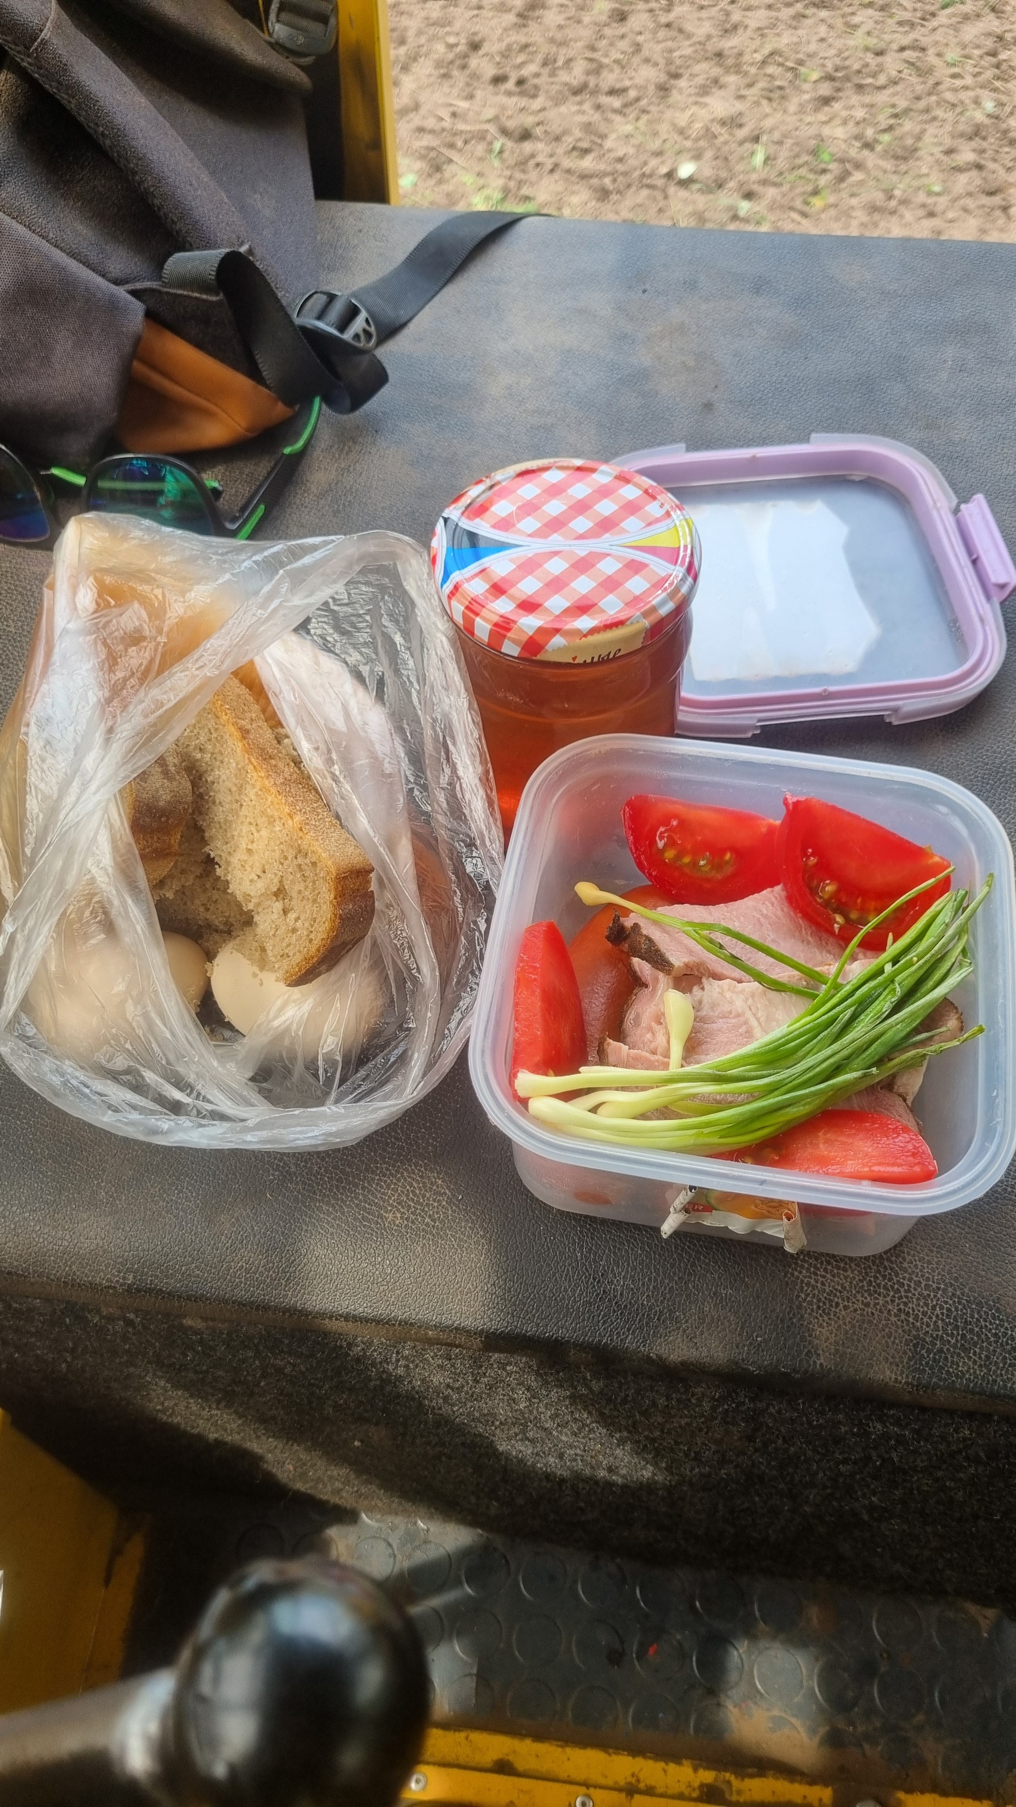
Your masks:
<instances>
[{"instance_id":1,"label":"left one of two tomato wedges at container's back edge","mask_svg":"<svg viewBox=\"0 0 1016 1807\"><path fill-rule=\"evenodd\" d=\"M779 884L779 822L767 815L629 797L622 820L638 871L671 904L734 904Z\"/></svg>"}]
</instances>

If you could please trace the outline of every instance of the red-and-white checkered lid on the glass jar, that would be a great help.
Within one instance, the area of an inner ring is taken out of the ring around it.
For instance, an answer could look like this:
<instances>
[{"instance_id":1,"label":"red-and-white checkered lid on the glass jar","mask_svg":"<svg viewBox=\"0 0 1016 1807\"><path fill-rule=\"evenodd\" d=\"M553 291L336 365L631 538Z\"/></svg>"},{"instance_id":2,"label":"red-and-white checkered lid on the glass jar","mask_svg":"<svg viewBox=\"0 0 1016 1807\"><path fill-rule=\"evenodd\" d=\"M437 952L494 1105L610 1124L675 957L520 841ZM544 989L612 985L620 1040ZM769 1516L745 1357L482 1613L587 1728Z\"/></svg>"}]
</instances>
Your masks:
<instances>
[{"instance_id":1,"label":"red-and-white checkered lid on the glass jar","mask_svg":"<svg viewBox=\"0 0 1016 1807\"><path fill-rule=\"evenodd\" d=\"M582 665L662 634L691 602L701 555L691 515L647 477L539 459L456 497L430 562L472 640L515 660Z\"/></svg>"}]
</instances>

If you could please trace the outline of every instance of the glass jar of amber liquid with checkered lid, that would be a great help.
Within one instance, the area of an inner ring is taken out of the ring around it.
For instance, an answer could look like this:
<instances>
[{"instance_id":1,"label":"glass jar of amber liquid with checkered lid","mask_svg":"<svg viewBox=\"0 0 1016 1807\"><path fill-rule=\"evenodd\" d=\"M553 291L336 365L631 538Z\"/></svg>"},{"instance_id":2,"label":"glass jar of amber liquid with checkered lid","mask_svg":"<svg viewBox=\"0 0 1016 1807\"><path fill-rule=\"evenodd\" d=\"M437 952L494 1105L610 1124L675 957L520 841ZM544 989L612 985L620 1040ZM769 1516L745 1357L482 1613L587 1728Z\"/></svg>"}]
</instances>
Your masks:
<instances>
[{"instance_id":1,"label":"glass jar of amber liquid with checkered lid","mask_svg":"<svg viewBox=\"0 0 1016 1807\"><path fill-rule=\"evenodd\" d=\"M506 835L559 746L674 732L700 546L667 490L589 459L515 464L448 504L430 558Z\"/></svg>"}]
</instances>

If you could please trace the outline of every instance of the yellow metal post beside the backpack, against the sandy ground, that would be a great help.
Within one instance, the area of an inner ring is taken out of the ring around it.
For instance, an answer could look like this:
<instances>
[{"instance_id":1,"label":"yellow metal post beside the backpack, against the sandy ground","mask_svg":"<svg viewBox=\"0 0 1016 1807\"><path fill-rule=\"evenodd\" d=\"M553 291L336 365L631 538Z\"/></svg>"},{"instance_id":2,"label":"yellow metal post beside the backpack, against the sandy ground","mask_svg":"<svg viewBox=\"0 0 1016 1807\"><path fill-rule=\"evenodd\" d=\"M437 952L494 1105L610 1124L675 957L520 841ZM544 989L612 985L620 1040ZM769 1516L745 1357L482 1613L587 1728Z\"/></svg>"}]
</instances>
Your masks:
<instances>
[{"instance_id":1,"label":"yellow metal post beside the backpack, against the sandy ground","mask_svg":"<svg viewBox=\"0 0 1016 1807\"><path fill-rule=\"evenodd\" d=\"M387 0L338 0L345 201L398 201Z\"/></svg>"}]
</instances>

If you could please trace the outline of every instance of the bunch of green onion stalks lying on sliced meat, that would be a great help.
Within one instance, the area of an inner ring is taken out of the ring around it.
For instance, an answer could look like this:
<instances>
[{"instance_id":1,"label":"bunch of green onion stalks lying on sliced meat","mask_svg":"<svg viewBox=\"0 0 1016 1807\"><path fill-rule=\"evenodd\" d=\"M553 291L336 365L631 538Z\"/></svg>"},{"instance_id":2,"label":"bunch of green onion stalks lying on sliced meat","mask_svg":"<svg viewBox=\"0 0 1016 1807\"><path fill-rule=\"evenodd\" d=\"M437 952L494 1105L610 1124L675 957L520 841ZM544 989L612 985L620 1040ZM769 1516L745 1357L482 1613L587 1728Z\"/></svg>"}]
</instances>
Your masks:
<instances>
[{"instance_id":1,"label":"bunch of green onion stalks lying on sliced meat","mask_svg":"<svg viewBox=\"0 0 1016 1807\"><path fill-rule=\"evenodd\" d=\"M942 875L936 875L915 885L866 923L832 974L739 929L683 922L597 885L575 885L584 904L616 904L647 922L680 929L747 978L806 997L806 1005L792 1023L720 1061L682 1068L680 1043L671 1037L678 1053L671 1053L667 1072L616 1066L582 1066L577 1073L550 1075L521 1072L515 1081L519 1097L528 1099L530 1115L539 1122L588 1142L721 1155L765 1142L853 1091L960 1048L983 1035L982 1023L951 1041L933 1041L933 1032L922 1025L973 972L969 927L991 891L992 875L974 898L967 891L938 898L898 941L889 938L884 952L844 978L862 938L940 880ZM767 956L794 978L774 978L725 941ZM580 1095L568 1099L560 1093Z\"/></svg>"}]
</instances>

